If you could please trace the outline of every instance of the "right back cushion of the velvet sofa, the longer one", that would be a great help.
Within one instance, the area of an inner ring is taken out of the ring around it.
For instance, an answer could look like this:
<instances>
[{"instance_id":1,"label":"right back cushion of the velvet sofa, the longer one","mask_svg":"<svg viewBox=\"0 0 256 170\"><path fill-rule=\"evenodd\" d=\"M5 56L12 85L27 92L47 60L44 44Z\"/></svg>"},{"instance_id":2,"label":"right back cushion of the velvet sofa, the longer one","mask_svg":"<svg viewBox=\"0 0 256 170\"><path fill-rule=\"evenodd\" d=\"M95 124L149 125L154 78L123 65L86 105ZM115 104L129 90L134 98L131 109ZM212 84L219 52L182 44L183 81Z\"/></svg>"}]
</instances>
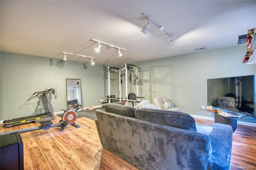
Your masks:
<instances>
[{"instance_id":1,"label":"right back cushion of the velvet sofa, the longer one","mask_svg":"<svg viewBox=\"0 0 256 170\"><path fill-rule=\"evenodd\" d=\"M153 123L196 132L194 118L183 112L142 108L135 111L135 117Z\"/></svg>"}]
</instances>

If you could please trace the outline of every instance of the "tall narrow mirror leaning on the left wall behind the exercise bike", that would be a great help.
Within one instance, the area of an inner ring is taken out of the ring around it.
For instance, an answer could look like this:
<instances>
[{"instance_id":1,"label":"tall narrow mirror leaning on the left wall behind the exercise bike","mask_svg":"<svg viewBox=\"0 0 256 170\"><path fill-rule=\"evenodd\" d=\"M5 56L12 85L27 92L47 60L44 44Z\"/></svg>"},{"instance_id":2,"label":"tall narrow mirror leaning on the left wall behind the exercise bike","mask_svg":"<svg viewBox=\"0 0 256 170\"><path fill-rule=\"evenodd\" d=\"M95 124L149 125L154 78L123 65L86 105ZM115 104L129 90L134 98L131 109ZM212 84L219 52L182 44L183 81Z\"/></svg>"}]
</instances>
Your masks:
<instances>
[{"instance_id":1,"label":"tall narrow mirror leaning on the left wall behind the exercise bike","mask_svg":"<svg viewBox=\"0 0 256 170\"><path fill-rule=\"evenodd\" d=\"M82 111L81 80L66 79L67 103L71 105L70 110Z\"/></svg>"}]
</instances>

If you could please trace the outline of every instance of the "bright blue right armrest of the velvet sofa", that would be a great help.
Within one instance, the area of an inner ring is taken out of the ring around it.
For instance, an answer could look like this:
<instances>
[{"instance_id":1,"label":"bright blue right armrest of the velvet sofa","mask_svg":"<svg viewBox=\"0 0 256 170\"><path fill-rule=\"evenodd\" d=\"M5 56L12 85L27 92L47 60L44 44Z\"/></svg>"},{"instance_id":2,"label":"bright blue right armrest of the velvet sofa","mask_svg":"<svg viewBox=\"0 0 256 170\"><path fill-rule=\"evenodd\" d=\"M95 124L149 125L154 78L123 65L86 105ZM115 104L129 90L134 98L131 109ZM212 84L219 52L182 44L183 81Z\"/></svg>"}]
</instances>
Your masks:
<instances>
[{"instance_id":1,"label":"bright blue right armrest of the velvet sofa","mask_svg":"<svg viewBox=\"0 0 256 170\"><path fill-rule=\"evenodd\" d=\"M232 127L220 123L214 123L212 126L215 128L209 134L212 145L209 169L229 170L232 150Z\"/></svg>"}]
</instances>

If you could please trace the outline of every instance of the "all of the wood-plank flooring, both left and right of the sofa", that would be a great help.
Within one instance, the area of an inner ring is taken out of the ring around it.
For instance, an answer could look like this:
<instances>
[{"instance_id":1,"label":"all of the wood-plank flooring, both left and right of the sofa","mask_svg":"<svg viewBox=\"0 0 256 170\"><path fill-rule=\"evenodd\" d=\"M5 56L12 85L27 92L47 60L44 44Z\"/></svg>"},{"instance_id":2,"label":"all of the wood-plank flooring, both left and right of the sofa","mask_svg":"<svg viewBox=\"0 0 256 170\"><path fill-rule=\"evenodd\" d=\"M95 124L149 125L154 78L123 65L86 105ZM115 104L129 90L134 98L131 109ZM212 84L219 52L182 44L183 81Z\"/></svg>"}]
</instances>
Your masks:
<instances>
[{"instance_id":1,"label":"all of the wood-plank flooring, both left and right of the sofa","mask_svg":"<svg viewBox=\"0 0 256 170\"><path fill-rule=\"evenodd\" d=\"M58 123L56 116L53 123ZM210 120L196 119L197 123L212 125ZM82 117L76 120L80 128L68 125L60 132L59 127L20 134L24 143L25 170L136 170L124 160L102 149L93 120ZM30 123L0 132L40 126ZM225 140L225 139L223 139ZM256 169L256 127L238 125L233 133L231 168Z\"/></svg>"}]
</instances>

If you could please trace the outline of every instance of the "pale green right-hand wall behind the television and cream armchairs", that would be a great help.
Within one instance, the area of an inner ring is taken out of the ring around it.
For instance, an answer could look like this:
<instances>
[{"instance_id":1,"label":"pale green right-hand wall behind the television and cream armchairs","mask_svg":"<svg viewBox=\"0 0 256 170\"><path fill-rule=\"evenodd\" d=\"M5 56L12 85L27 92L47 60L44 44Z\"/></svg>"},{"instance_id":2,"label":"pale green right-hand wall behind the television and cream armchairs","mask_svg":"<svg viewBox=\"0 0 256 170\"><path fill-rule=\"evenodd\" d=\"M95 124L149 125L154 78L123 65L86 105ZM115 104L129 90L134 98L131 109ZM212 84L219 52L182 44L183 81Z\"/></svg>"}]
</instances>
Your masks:
<instances>
[{"instance_id":1,"label":"pale green right-hand wall behind the television and cream armchairs","mask_svg":"<svg viewBox=\"0 0 256 170\"><path fill-rule=\"evenodd\" d=\"M174 47L174 46L172 46ZM256 74L256 65L245 65L244 44L135 63L139 67L140 96L154 103L155 97L167 97L182 112L214 117L199 108L206 106L207 79ZM246 120L256 123L256 120Z\"/></svg>"}]
</instances>

